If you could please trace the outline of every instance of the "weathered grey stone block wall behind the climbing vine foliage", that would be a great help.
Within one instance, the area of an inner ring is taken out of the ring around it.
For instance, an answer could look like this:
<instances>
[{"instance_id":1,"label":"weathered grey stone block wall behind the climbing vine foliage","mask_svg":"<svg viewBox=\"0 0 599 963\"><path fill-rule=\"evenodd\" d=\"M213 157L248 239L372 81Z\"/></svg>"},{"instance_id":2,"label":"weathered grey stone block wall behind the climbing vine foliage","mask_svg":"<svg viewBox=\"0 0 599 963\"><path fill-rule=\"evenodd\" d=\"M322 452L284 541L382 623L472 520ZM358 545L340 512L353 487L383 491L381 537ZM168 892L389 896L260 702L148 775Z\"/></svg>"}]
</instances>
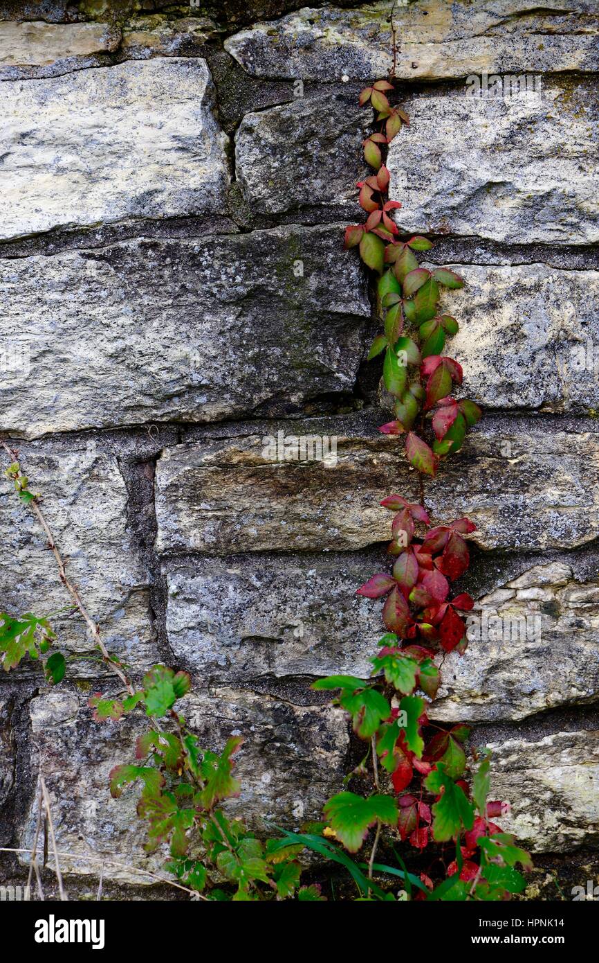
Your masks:
<instances>
[{"instance_id":1,"label":"weathered grey stone block wall behind the climbing vine foliage","mask_svg":"<svg viewBox=\"0 0 599 963\"><path fill-rule=\"evenodd\" d=\"M367 671L380 612L354 593L385 560L378 503L417 488L377 431L376 321L341 250L369 122L356 95L389 69L389 6L0 13L0 431L107 645L135 672L188 669L206 742L245 737L237 806L257 824L297 825L340 785L347 725L309 684ZM483 623L540 626L448 657L432 715L492 744L506 824L539 880L566 885L596 875L599 845L597 13L398 4L412 123L388 162L400 227L465 277L444 304L486 409L427 504L478 526L463 587ZM503 95L472 95L484 71ZM514 74L537 81L516 92ZM273 461L280 431L335 437L337 459ZM0 525L1 608L60 609L6 483ZM55 623L65 653L89 653L76 619ZM131 720L91 720L89 691L112 686L86 659L56 690L31 664L0 680L0 846L31 845L41 772L70 885L98 872L76 856L104 857L123 864L105 886L135 895L160 861L107 791L135 740Z\"/></svg>"}]
</instances>

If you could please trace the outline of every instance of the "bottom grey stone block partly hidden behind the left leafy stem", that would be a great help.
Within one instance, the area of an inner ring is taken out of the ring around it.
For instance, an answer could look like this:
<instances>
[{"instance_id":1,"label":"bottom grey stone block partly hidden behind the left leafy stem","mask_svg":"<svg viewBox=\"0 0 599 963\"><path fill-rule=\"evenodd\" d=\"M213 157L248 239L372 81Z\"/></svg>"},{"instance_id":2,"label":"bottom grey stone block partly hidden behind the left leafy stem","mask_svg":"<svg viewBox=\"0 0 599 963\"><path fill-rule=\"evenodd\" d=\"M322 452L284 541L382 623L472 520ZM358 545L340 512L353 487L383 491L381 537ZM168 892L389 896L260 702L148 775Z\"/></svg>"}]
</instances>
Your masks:
<instances>
[{"instance_id":1,"label":"bottom grey stone block partly hidden behind the left leafy stem","mask_svg":"<svg viewBox=\"0 0 599 963\"><path fill-rule=\"evenodd\" d=\"M293 826L318 817L342 778L348 736L339 710L294 706L221 687L196 690L187 697L185 712L207 748L218 748L232 734L245 738L236 767L242 794L228 804L233 813L249 808L250 817L260 814L259 822ZM135 789L112 799L108 785L113 766L134 760L137 735L145 731L142 719L94 723L87 697L72 689L42 692L32 701L31 719L59 850L94 860L105 857L105 872L114 880L151 882L134 871L160 871L167 849L152 856L143 853L145 827L137 820ZM22 846L32 846L36 820L34 801L21 829ZM111 865L111 860L123 865ZM98 863L64 857L61 869L97 874Z\"/></svg>"}]
</instances>

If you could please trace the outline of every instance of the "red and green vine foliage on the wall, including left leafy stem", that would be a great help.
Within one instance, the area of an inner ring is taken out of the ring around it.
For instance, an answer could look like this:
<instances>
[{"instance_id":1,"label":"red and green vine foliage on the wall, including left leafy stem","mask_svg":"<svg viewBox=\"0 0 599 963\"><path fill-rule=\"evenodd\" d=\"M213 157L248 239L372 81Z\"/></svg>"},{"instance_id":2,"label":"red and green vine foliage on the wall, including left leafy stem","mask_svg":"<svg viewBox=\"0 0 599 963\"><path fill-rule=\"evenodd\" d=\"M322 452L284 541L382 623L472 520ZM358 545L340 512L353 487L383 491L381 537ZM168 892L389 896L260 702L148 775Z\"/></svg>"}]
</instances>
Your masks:
<instances>
[{"instance_id":1,"label":"red and green vine foliage on the wall, including left leafy stem","mask_svg":"<svg viewBox=\"0 0 599 963\"><path fill-rule=\"evenodd\" d=\"M374 173L358 185L367 217L347 228L345 247L359 247L376 278L384 318L384 332L368 355L372 359L385 352L383 381L394 418L380 430L405 435L405 454L422 480L435 476L440 461L460 450L466 429L481 411L475 403L453 397L454 388L462 384L462 368L443 354L458 323L439 313L440 291L462 288L462 278L447 268L421 267L415 252L433 245L421 236L401 240L392 217L401 204L388 197L387 147L409 123L399 106L391 106L392 91L389 81L379 80L360 95L362 106L370 105L376 115L376 129L363 143ZM165 868L179 887L210 900L320 900L324 896L318 885L301 884L299 857L310 849L347 870L360 899L395 900L398 880L400 898L503 899L524 889L524 876L516 866L526 870L530 857L493 821L501 803L488 799L488 752L469 773L467 727L444 730L433 726L427 715L440 683L437 657L462 654L466 646L462 613L472 609L473 600L466 592L454 595L451 584L468 568L463 536L475 530L472 522L460 518L433 526L422 481L419 503L399 494L383 500L393 512L388 546L392 564L389 572L372 575L358 589L365 598L385 598L387 633L370 660L371 677L334 675L313 684L315 690L337 693L335 701L351 718L366 754L349 773L345 790L326 803L324 820L302 832L271 827L271 836L261 839L224 805L240 791L235 755L242 740L230 739L220 753L200 745L180 706L191 686L187 672L155 665L135 684L129 667L107 650L69 580L41 496L31 490L18 453L1 444L10 457L5 475L47 538L71 598L69 611L85 621L95 650L117 681L111 694L98 691L89 698L93 718L117 723L137 713L143 719L135 761L112 769L110 791L117 798L137 786L137 814L147 824L146 850L168 846ZM37 660L57 646L51 615L0 613L5 670L26 656ZM65 670L57 648L44 664L47 681L59 684ZM183 705L185 709L185 701ZM348 788L353 781L362 792ZM407 869L396 848L400 844L415 850L420 860L424 850L433 847L427 872ZM364 847L367 855L353 858Z\"/></svg>"}]
</instances>

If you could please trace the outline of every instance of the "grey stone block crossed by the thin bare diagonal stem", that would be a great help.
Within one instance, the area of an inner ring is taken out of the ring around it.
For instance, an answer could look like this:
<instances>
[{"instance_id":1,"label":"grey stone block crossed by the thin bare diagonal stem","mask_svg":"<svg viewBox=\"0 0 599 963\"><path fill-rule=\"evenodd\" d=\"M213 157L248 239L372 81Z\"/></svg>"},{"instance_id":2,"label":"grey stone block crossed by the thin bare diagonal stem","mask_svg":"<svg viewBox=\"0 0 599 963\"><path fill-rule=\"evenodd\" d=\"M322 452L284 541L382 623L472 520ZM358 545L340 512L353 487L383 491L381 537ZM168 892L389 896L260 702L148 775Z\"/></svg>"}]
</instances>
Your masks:
<instances>
[{"instance_id":1,"label":"grey stone block crossed by the thin bare diagonal stem","mask_svg":"<svg viewBox=\"0 0 599 963\"><path fill-rule=\"evenodd\" d=\"M102 638L122 660L139 671L160 661L149 612L148 575L136 558L126 519L127 491L116 459L93 441L62 451L50 446L21 446L20 463L92 618L101 621ZM2 611L44 615L70 606L56 562L46 547L37 519L0 484L0 557ZM51 623L62 651L91 654L69 663L72 676L103 674L81 620L68 613ZM27 660L19 673L41 671Z\"/></svg>"}]
</instances>

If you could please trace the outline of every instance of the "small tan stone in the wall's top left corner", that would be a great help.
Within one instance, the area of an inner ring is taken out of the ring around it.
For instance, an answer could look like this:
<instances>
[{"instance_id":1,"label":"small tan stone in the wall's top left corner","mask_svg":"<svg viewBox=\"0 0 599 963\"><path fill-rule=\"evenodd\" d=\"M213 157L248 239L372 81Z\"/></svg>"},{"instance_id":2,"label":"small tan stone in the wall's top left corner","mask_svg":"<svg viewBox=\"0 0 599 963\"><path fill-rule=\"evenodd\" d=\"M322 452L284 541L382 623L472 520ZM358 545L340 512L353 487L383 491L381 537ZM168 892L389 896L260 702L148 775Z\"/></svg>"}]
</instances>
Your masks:
<instances>
[{"instance_id":1,"label":"small tan stone in the wall's top left corner","mask_svg":"<svg viewBox=\"0 0 599 963\"><path fill-rule=\"evenodd\" d=\"M119 39L106 23L0 23L0 66L47 65L112 51Z\"/></svg>"}]
</instances>

